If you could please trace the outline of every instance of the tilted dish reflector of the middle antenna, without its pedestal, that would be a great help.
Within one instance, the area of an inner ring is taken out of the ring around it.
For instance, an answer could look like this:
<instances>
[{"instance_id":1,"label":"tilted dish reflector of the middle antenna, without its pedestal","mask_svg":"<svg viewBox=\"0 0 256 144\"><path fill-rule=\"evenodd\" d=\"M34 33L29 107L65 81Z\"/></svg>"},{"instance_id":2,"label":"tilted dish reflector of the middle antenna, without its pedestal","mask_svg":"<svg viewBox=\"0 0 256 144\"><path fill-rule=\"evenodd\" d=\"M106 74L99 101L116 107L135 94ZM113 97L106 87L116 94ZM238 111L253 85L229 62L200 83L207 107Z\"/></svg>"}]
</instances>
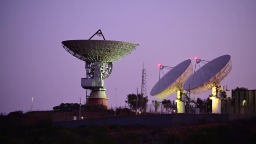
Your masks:
<instances>
[{"instance_id":1,"label":"tilted dish reflector of the middle antenna, without its pedestal","mask_svg":"<svg viewBox=\"0 0 256 144\"><path fill-rule=\"evenodd\" d=\"M176 91L180 91L192 73L192 62L190 59L187 59L167 72L152 88L150 95L164 99Z\"/></svg>"}]
</instances>

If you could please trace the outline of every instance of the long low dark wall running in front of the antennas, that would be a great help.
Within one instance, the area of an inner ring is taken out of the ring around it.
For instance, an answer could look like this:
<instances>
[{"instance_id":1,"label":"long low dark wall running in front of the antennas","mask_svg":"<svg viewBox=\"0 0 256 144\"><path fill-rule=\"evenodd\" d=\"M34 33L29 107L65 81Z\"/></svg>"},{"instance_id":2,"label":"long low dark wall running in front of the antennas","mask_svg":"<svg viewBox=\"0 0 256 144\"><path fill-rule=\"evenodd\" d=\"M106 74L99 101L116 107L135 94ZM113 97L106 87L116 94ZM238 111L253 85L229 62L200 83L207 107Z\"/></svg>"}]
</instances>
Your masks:
<instances>
[{"instance_id":1,"label":"long low dark wall running in front of the antennas","mask_svg":"<svg viewBox=\"0 0 256 144\"><path fill-rule=\"evenodd\" d=\"M240 119L248 117L240 117ZM232 117L232 120L237 116ZM77 128L81 125L147 125L150 127L176 127L187 125L201 125L216 122L226 122L229 114L181 114L181 115L124 115L118 117L102 117L88 120L63 121L53 123L53 126Z\"/></svg>"}]
</instances>

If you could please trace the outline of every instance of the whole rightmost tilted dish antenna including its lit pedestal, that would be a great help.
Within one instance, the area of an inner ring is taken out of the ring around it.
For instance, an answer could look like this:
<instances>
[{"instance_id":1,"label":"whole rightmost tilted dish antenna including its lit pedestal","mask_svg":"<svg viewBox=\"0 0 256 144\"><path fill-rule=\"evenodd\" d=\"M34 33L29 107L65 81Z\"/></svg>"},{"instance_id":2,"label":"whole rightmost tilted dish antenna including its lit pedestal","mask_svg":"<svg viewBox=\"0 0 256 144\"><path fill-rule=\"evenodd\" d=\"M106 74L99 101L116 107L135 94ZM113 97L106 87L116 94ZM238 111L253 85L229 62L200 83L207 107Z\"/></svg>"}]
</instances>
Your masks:
<instances>
[{"instance_id":1,"label":"whole rightmost tilted dish antenna including its lit pedestal","mask_svg":"<svg viewBox=\"0 0 256 144\"><path fill-rule=\"evenodd\" d=\"M201 61L203 62L204 60L197 59L196 64L199 64ZM231 56L228 54L219 56L194 72L186 81L184 89L190 90L194 94L203 93L212 89L212 94L210 95L210 99L212 100L212 113L221 113L221 99L223 99L223 97L219 97L217 93L221 89L221 80L227 77L231 69ZM226 93L227 92L228 91L226 91ZM231 93L231 91L229 91L229 93Z\"/></svg>"}]
</instances>

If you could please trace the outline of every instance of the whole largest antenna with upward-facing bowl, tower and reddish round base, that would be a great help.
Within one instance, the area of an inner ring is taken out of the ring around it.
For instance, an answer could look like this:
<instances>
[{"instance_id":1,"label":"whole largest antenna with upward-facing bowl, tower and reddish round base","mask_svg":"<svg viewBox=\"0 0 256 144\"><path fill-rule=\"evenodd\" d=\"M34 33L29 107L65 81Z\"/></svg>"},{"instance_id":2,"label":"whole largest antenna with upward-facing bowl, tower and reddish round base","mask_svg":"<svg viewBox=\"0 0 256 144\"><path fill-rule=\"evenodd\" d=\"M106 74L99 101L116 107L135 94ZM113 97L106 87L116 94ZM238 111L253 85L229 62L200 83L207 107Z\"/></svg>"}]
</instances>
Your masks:
<instances>
[{"instance_id":1,"label":"whole largest antenna with upward-facing bowl, tower and reddish round base","mask_svg":"<svg viewBox=\"0 0 256 144\"><path fill-rule=\"evenodd\" d=\"M95 35L102 36L104 40L91 40ZM105 40L99 29L89 40L66 40L62 42L70 54L85 61L86 76L81 80L81 86L89 90L86 94L87 105L102 104L108 107L104 80L109 77L113 69L113 62L130 54L137 44Z\"/></svg>"}]
</instances>

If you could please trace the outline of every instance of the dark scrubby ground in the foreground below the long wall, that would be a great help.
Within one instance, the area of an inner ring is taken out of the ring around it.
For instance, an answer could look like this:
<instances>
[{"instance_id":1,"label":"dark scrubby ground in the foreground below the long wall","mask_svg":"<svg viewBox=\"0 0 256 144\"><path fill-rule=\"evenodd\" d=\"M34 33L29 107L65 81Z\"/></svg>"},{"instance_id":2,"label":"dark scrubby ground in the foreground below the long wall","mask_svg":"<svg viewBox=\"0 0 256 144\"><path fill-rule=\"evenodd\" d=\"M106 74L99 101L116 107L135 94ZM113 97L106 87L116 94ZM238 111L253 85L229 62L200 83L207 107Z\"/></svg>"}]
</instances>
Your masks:
<instances>
[{"instance_id":1,"label":"dark scrubby ground in the foreground below the long wall","mask_svg":"<svg viewBox=\"0 0 256 144\"><path fill-rule=\"evenodd\" d=\"M80 128L52 127L44 117L22 114L0 116L0 141L54 144L254 144L256 118L177 128L143 125L96 125Z\"/></svg>"}]
</instances>

